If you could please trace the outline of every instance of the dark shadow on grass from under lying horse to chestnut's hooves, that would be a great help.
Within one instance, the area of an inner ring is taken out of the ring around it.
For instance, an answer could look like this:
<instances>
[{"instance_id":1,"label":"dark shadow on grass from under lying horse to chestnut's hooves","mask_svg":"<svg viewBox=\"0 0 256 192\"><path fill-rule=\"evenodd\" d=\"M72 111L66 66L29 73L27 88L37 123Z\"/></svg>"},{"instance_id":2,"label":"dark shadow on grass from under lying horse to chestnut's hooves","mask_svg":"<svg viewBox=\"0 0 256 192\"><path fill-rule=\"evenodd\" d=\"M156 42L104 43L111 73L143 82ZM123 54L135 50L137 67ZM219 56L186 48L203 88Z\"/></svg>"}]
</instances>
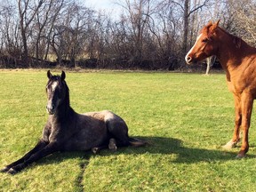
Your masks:
<instances>
[{"instance_id":1,"label":"dark shadow on grass from under lying horse to chestnut's hooves","mask_svg":"<svg viewBox=\"0 0 256 192\"><path fill-rule=\"evenodd\" d=\"M224 149L206 149L206 148L188 148L182 145L182 140L164 137L136 137L140 140L147 140L148 144L144 147L134 148L117 148L113 152L109 149L103 149L98 154L93 154L91 151L77 152L61 152L54 153L51 156L46 156L39 160L36 164L58 164L70 158L81 158L84 162L80 164L89 164L92 156L113 156L113 155L142 155L142 154L158 154L158 155L176 155L177 157L170 162L173 164L196 164L200 162L217 162L236 160L237 152L225 151ZM247 155L247 158L256 156ZM83 162L83 161L82 161ZM30 166L31 167L31 166Z\"/></svg>"}]
</instances>

